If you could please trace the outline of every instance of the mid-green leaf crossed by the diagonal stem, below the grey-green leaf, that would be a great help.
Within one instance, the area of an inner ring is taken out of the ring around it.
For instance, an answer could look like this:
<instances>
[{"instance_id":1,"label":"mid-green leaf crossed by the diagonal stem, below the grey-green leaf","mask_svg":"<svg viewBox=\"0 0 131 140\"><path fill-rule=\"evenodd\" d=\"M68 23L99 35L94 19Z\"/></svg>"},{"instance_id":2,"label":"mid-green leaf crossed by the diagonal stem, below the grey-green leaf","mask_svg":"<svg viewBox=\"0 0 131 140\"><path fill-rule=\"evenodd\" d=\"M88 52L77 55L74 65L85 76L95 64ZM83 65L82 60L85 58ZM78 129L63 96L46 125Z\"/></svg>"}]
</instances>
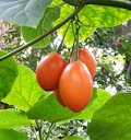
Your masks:
<instances>
[{"instance_id":1,"label":"mid-green leaf crossed by the diagonal stem, below the grey-green leaf","mask_svg":"<svg viewBox=\"0 0 131 140\"><path fill-rule=\"evenodd\" d=\"M40 21L37 28L33 27L22 27L22 35L26 42L31 42L32 39L38 37L39 35L47 33L50 28L52 28L52 22L59 18L60 8L58 5L52 8L47 8L45 11L45 15ZM50 43L50 36L41 39L40 42L34 44L34 47L45 48Z\"/></svg>"}]
</instances>

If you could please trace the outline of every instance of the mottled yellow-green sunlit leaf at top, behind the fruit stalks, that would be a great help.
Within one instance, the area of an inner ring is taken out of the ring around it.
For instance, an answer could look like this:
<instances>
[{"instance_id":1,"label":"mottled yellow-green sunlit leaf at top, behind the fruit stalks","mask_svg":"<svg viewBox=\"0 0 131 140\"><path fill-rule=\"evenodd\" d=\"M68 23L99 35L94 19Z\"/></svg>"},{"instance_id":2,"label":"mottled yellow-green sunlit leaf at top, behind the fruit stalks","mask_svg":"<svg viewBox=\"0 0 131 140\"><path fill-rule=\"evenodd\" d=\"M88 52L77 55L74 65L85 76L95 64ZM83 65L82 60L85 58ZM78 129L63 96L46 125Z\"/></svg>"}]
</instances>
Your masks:
<instances>
[{"instance_id":1,"label":"mottled yellow-green sunlit leaf at top, behind the fruit stalks","mask_svg":"<svg viewBox=\"0 0 131 140\"><path fill-rule=\"evenodd\" d=\"M74 1L73 1L74 2ZM63 19L69 16L73 12L74 8L64 4L61 7L61 14L56 24L60 23ZM79 13L80 20L80 40L87 38L97 27L112 27L119 25L131 19L131 11L110 7L100 5L85 5ZM63 36L68 24L63 25L58 32ZM73 27L72 27L73 26ZM64 43L68 47L72 47L74 42L75 25L70 25Z\"/></svg>"}]
</instances>

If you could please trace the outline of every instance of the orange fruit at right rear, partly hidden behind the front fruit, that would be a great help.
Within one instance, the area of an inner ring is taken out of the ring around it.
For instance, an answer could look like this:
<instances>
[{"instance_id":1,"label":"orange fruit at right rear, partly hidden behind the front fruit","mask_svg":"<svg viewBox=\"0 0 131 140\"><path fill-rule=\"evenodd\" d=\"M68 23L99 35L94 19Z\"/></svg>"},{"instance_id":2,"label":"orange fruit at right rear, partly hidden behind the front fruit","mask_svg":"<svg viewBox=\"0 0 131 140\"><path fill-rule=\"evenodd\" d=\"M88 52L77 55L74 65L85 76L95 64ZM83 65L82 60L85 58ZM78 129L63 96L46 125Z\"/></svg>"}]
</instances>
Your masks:
<instances>
[{"instance_id":1,"label":"orange fruit at right rear, partly hidden behind the front fruit","mask_svg":"<svg viewBox=\"0 0 131 140\"><path fill-rule=\"evenodd\" d=\"M86 67L91 72L92 78L94 78L97 67L94 55L86 48L79 48L79 59L86 65ZM70 62L72 62L73 60L74 60L74 54L72 54L70 58Z\"/></svg>"}]
</instances>

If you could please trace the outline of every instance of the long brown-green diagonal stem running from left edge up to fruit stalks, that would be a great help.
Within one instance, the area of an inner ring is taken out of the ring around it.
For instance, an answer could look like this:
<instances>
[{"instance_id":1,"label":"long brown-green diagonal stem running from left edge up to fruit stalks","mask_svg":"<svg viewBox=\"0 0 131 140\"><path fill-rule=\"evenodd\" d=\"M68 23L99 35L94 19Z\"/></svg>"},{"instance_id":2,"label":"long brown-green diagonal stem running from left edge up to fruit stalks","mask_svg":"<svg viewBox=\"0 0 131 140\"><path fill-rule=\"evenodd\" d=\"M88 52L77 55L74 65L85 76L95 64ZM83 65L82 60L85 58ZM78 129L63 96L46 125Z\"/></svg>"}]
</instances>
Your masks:
<instances>
[{"instance_id":1,"label":"long brown-green diagonal stem running from left edge up to fruit stalks","mask_svg":"<svg viewBox=\"0 0 131 140\"><path fill-rule=\"evenodd\" d=\"M41 40L43 38L47 37L48 35L50 35L51 33L53 33L56 30L60 28L62 25L64 25L67 22L69 22L71 19L73 19L82 9L83 9L84 4L80 4L80 7L78 7L78 9L71 14L69 15L66 20L63 20L61 23L59 23L58 25L56 25L53 28L51 28L50 31L48 31L47 33L36 37L35 39L31 40L29 43L27 43L26 45L19 47L14 50L12 50L11 52L0 57L0 61L17 54L19 51L22 51L23 49L36 44L37 42Z\"/></svg>"}]
</instances>

